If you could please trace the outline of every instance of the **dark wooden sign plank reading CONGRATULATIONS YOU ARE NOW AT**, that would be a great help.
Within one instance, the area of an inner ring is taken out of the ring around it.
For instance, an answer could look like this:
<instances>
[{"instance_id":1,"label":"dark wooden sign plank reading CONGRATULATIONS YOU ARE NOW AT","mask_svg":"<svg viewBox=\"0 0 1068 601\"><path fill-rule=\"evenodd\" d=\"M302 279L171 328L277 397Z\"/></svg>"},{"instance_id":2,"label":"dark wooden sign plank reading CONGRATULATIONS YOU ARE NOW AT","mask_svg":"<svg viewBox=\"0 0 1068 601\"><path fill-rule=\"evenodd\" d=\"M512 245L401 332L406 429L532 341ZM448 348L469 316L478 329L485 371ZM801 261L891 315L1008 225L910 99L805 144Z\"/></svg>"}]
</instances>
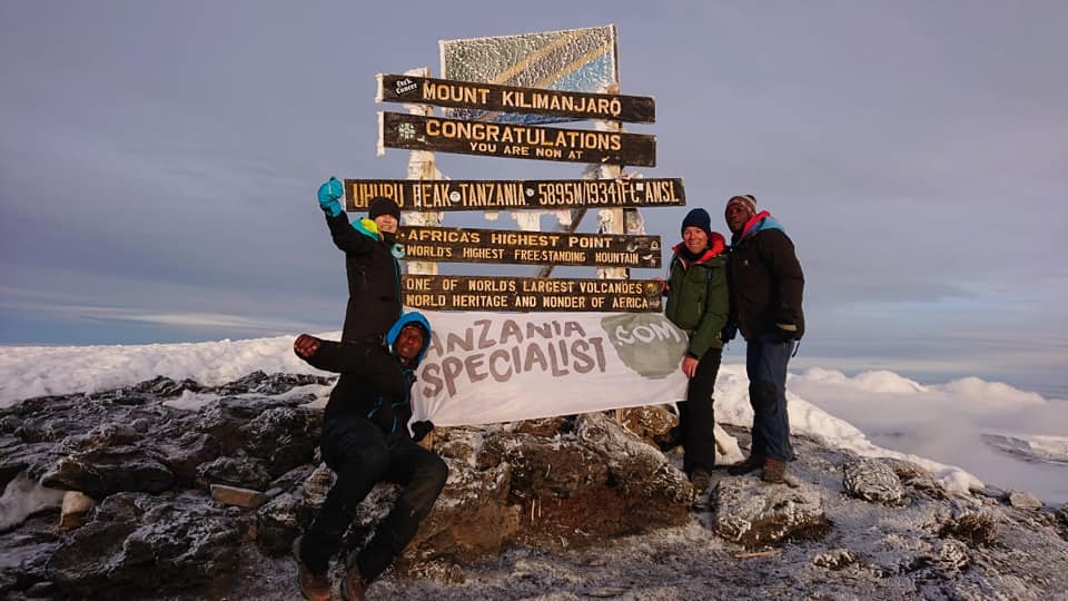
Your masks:
<instances>
[{"instance_id":1,"label":"dark wooden sign plank reading CONGRATULATIONS YOU ARE NOW AT","mask_svg":"<svg viewBox=\"0 0 1068 601\"><path fill-rule=\"evenodd\" d=\"M610 165L656 166L656 137L622 131L441 119L380 112L379 154L385 147Z\"/></svg>"}]
</instances>

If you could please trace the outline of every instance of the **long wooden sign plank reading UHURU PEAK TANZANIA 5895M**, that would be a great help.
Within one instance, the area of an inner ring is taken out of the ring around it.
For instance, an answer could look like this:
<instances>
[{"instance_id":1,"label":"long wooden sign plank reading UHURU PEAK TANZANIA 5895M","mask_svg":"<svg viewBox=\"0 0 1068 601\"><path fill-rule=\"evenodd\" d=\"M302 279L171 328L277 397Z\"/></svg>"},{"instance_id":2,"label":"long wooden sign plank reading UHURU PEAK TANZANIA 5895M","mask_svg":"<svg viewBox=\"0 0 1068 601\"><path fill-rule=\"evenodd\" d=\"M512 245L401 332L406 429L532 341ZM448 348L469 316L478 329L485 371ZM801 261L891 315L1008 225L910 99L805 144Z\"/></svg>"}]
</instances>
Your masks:
<instances>
[{"instance_id":1,"label":"long wooden sign plank reading UHURU PEAK TANZANIA 5895M","mask_svg":"<svg viewBox=\"0 0 1068 601\"><path fill-rule=\"evenodd\" d=\"M668 207L686 204L681 178L633 179L346 179L345 209L367 210L376 196L400 210L501 210Z\"/></svg>"}]
</instances>

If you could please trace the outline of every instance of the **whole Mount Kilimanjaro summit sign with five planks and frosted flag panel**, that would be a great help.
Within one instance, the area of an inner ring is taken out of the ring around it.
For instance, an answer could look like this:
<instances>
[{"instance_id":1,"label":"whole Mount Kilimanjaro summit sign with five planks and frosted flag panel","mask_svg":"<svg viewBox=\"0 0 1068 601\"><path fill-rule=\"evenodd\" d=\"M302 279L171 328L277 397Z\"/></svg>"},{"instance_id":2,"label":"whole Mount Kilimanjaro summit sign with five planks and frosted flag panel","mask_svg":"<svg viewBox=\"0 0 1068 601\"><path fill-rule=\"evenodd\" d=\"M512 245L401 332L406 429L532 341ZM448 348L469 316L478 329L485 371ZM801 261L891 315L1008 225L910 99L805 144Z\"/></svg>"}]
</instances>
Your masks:
<instances>
[{"instance_id":1,"label":"whole Mount Kilimanjaro summit sign with five planks and frosted flag panel","mask_svg":"<svg viewBox=\"0 0 1068 601\"><path fill-rule=\"evenodd\" d=\"M392 198L408 216L395 253L407 259L405 305L442 311L660 312L661 284L631 280L630 267L657 268L661 240L627 226L624 210L685 204L679 178L624 176L656 164L654 136L622 124L653 122L651 97L619 91L615 27L443 41L443 78L412 70L377 76L377 101L409 114L379 112L378 154L412 151L408 178L346 179L347 210ZM442 107L445 116L433 114ZM592 129L538 124L593 120ZM444 179L433 152L582 162L595 179ZM596 209L597 234L576 233ZM520 230L441 227L445 211L510 210ZM567 211L565 231L540 231L541 211ZM640 223L640 217L631 219ZM438 275L441 263L541 265L541 277ZM597 278L550 278L553 266L590 266Z\"/></svg>"}]
</instances>

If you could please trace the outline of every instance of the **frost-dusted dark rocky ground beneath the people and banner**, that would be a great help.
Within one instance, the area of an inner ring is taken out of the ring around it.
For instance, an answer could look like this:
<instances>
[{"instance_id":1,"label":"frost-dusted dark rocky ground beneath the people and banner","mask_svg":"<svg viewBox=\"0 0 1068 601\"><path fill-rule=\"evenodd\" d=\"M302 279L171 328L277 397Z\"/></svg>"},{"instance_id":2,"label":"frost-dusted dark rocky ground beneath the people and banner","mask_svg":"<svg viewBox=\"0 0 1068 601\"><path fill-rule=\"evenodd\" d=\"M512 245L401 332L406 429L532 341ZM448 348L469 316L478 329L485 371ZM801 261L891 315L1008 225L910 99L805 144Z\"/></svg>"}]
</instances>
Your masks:
<instances>
[{"instance_id":1,"label":"frost-dusted dark rocky ground beneath the people and banner","mask_svg":"<svg viewBox=\"0 0 1068 601\"><path fill-rule=\"evenodd\" d=\"M297 597L289 545L333 474L317 457L315 395L293 390L328 382L256 373L209 388L156 378L0 410L0 597ZM205 400L196 410L170 402L194 396ZM694 504L671 451L676 424L650 406L436 430L448 482L372 592L1037 599L1068 588L1065 508L950 495L909 462L803 437L795 485L716 471L709 503ZM372 492L346 550L363 544L396 491Z\"/></svg>"}]
</instances>

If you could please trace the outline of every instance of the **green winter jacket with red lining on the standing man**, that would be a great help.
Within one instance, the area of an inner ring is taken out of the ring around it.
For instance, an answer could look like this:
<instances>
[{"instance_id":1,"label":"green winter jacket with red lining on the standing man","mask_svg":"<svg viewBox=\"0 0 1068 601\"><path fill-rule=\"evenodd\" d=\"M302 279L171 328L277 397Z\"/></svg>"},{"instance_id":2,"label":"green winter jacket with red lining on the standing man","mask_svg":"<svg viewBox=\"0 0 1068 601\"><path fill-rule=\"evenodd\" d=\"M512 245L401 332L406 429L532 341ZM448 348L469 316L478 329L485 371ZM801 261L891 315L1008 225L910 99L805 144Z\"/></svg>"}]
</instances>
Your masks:
<instances>
[{"instance_id":1,"label":"green winter jacket with red lining on the standing man","mask_svg":"<svg viewBox=\"0 0 1068 601\"><path fill-rule=\"evenodd\" d=\"M668 304L664 316L690 336L686 354L700 359L710 348L723 348L729 295L723 236L712 233L710 248L695 262L675 254L668 276Z\"/></svg>"}]
</instances>

